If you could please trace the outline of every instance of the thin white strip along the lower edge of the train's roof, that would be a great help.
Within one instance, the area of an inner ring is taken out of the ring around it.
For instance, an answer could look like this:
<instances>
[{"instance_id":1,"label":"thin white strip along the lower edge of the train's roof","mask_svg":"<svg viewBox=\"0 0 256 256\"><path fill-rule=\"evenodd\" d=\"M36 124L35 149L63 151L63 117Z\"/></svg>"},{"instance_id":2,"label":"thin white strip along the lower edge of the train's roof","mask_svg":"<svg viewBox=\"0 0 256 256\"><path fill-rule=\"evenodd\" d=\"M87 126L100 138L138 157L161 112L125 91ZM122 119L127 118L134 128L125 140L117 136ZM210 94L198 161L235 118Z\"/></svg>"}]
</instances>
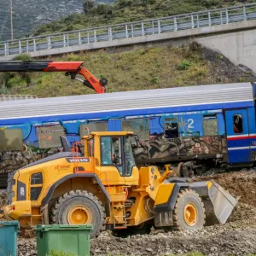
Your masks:
<instances>
[{"instance_id":1,"label":"thin white strip along the lower edge of the train's roof","mask_svg":"<svg viewBox=\"0 0 256 256\"><path fill-rule=\"evenodd\" d=\"M175 107L186 107L186 106L198 106L198 105L210 105L210 104L222 104L222 103L233 103L233 102L252 102L252 100L242 100L242 101L230 101L230 102L209 102L209 103L198 103L198 104L184 104L184 105L169 105L169 106L160 106L160 107L145 107L145 108L123 108L123 109L108 109L100 111L88 111L84 112L75 112L75 113L52 113L52 114L38 114L38 115L28 115L22 117L10 117L10 118L0 118L0 120L8 119L26 119L26 118L38 118L38 117L48 117L48 116L57 116L57 115L72 115L72 114L85 114L85 113L106 113L106 112L120 112L120 111L129 111L129 110L141 110L141 109L154 109L154 108L175 108ZM85 102L86 103L86 102ZM86 107L85 107L86 109ZM245 136L245 135L243 135Z\"/></svg>"}]
</instances>

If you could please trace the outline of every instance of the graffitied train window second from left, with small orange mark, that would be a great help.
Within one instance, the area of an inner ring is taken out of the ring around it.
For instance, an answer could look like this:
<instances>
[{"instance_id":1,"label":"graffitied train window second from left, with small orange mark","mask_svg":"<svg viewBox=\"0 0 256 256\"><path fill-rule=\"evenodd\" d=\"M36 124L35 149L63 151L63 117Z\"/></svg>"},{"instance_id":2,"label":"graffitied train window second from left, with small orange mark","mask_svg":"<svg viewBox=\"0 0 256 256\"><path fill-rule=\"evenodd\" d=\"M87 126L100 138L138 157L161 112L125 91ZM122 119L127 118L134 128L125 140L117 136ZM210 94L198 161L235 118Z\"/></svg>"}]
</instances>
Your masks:
<instances>
[{"instance_id":1,"label":"graffitied train window second from left, with small orange mark","mask_svg":"<svg viewBox=\"0 0 256 256\"><path fill-rule=\"evenodd\" d=\"M65 136L65 131L61 125L39 126L38 148L61 147L61 136Z\"/></svg>"}]
</instances>

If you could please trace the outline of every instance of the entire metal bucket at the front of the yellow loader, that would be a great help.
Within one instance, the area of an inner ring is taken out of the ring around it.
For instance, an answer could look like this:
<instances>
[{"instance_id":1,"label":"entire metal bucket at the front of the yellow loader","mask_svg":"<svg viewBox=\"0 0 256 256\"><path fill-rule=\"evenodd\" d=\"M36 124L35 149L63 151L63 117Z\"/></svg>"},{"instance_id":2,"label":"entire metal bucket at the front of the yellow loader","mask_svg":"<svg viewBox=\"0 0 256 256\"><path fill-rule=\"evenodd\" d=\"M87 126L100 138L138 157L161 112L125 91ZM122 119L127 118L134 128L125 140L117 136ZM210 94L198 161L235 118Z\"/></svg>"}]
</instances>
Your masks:
<instances>
[{"instance_id":1,"label":"entire metal bucket at the front of the yellow loader","mask_svg":"<svg viewBox=\"0 0 256 256\"><path fill-rule=\"evenodd\" d=\"M213 180L189 185L201 196L206 210L207 224L224 224L236 207L238 199Z\"/></svg>"}]
</instances>

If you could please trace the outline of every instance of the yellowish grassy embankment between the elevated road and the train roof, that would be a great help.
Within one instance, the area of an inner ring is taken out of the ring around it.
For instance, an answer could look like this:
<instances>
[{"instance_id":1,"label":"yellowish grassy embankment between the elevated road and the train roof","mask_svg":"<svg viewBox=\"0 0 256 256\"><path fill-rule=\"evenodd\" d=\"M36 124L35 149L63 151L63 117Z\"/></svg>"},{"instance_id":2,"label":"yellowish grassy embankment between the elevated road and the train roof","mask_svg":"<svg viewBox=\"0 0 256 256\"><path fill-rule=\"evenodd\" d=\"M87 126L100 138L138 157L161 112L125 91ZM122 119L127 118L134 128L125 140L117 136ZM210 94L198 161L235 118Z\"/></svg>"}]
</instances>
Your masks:
<instances>
[{"instance_id":1,"label":"yellowish grassy embankment between the elevated road and the train roof","mask_svg":"<svg viewBox=\"0 0 256 256\"><path fill-rule=\"evenodd\" d=\"M85 61L84 66L97 78L108 79L108 92L255 80L252 73L242 73L222 55L198 48L196 44L183 48L136 47L112 54L99 50L57 60ZM22 74L15 74L9 80L8 93L40 97L93 93L64 73L31 73L30 77L31 82L27 83Z\"/></svg>"}]
</instances>

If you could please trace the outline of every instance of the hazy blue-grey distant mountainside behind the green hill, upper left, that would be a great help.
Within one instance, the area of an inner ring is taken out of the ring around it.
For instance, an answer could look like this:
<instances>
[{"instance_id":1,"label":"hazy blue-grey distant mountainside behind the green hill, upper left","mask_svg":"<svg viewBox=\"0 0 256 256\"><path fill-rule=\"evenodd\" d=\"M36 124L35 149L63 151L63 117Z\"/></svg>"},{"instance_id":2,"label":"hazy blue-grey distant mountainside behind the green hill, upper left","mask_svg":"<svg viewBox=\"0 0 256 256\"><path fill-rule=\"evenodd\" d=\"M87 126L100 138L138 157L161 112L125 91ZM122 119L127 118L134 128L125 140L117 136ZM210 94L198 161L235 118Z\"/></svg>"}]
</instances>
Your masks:
<instances>
[{"instance_id":1,"label":"hazy blue-grey distant mountainside behind the green hill, upper left","mask_svg":"<svg viewBox=\"0 0 256 256\"><path fill-rule=\"evenodd\" d=\"M100 0L109 3L114 0ZM83 12L83 0L13 0L15 38L31 34L32 29L61 16ZM9 0L0 0L0 41L10 39Z\"/></svg>"}]
</instances>

